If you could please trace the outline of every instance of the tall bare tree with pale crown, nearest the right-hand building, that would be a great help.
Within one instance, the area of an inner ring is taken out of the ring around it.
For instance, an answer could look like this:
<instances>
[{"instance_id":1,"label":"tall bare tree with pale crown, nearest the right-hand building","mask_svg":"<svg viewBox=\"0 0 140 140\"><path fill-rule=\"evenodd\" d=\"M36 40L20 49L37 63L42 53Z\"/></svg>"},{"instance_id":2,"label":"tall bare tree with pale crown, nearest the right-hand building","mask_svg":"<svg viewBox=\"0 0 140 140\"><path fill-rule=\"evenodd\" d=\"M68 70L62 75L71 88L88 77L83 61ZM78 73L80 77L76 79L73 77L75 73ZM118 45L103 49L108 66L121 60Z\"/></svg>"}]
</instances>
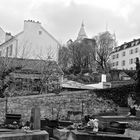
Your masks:
<instances>
[{"instance_id":1,"label":"tall bare tree with pale crown, nearest the right-hand building","mask_svg":"<svg viewBox=\"0 0 140 140\"><path fill-rule=\"evenodd\" d=\"M95 36L96 40L96 54L93 54L97 66L102 72L107 73L110 69L110 54L114 47L116 47L116 39L114 35L108 31L99 33Z\"/></svg>"}]
</instances>

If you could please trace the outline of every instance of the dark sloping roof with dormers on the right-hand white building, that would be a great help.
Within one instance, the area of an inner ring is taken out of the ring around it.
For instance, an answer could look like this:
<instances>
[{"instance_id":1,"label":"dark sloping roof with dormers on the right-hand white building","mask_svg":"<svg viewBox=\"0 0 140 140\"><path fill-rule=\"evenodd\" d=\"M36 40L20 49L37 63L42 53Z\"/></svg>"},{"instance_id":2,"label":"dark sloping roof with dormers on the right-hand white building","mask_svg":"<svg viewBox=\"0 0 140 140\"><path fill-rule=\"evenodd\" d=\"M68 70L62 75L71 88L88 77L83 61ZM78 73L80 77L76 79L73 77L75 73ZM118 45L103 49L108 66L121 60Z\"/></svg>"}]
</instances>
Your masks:
<instances>
[{"instance_id":1,"label":"dark sloping roof with dormers on the right-hand white building","mask_svg":"<svg viewBox=\"0 0 140 140\"><path fill-rule=\"evenodd\" d=\"M131 47L137 46L139 44L140 44L140 38L139 39L134 39L133 41L125 42L124 44L122 44L122 45L114 48L114 50L112 51L112 53L116 53L116 52L125 50L127 48L131 48Z\"/></svg>"}]
</instances>

